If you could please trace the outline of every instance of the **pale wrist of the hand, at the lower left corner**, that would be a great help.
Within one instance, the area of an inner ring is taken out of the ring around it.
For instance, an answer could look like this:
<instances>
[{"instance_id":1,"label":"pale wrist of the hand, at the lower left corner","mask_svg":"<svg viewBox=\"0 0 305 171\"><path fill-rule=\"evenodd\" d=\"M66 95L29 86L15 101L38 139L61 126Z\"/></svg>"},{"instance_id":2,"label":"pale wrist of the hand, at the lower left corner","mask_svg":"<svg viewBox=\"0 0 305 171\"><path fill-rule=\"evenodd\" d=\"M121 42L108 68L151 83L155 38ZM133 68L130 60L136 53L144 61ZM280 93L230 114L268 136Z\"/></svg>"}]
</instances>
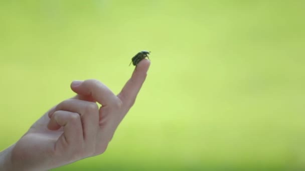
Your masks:
<instances>
[{"instance_id":1,"label":"pale wrist of the hand, at the lower left corner","mask_svg":"<svg viewBox=\"0 0 305 171\"><path fill-rule=\"evenodd\" d=\"M0 170L12 170L12 150L15 144L0 152Z\"/></svg>"}]
</instances>

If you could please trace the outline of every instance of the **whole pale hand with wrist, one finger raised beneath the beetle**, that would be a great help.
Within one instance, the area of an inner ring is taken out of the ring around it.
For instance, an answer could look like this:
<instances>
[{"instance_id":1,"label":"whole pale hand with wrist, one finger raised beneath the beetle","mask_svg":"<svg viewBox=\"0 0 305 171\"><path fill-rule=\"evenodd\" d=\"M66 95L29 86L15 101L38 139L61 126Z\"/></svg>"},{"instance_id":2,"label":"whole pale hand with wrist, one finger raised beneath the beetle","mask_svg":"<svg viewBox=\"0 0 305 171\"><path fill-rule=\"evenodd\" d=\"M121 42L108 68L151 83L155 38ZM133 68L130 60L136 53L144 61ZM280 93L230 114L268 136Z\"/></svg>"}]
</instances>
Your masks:
<instances>
[{"instance_id":1,"label":"whole pale hand with wrist, one finger raised beneath the beetle","mask_svg":"<svg viewBox=\"0 0 305 171\"><path fill-rule=\"evenodd\" d=\"M133 106L149 65L141 60L117 95L98 80L73 81L74 97L52 107L0 152L0 170L49 170L102 154Z\"/></svg>"}]
</instances>

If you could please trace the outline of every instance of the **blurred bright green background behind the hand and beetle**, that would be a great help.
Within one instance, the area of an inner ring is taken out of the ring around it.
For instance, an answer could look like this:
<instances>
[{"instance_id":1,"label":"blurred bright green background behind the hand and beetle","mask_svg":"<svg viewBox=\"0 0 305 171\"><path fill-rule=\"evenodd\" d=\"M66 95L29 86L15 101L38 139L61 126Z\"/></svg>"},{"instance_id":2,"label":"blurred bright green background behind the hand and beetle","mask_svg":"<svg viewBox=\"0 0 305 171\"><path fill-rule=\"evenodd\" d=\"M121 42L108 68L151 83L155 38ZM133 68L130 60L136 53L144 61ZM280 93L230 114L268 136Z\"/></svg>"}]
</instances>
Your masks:
<instances>
[{"instance_id":1,"label":"blurred bright green background behind the hand and beetle","mask_svg":"<svg viewBox=\"0 0 305 171\"><path fill-rule=\"evenodd\" d=\"M304 170L304 0L0 0L0 150L151 66L107 151L54 170Z\"/></svg>"}]
</instances>

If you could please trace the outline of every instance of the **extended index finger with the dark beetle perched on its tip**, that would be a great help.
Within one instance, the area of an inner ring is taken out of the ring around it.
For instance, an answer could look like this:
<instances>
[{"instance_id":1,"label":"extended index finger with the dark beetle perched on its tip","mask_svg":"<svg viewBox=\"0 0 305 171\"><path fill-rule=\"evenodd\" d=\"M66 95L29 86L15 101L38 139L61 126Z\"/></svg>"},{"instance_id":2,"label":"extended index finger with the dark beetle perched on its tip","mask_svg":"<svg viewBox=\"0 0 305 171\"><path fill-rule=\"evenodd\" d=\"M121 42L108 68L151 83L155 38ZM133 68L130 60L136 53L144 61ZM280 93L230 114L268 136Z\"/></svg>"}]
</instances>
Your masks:
<instances>
[{"instance_id":1,"label":"extended index finger with the dark beetle perched on its tip","mask_svg":"<svg viewBox=\"0 0 305 171\"><path fill-rule=\"evenodd\" d=\"M146 78L149 65L149 60L141 60L134 69L131 78L126 82L121 92L117 95L124 105L133 105L136 95Z\"/></svg>"}]
</instances>

